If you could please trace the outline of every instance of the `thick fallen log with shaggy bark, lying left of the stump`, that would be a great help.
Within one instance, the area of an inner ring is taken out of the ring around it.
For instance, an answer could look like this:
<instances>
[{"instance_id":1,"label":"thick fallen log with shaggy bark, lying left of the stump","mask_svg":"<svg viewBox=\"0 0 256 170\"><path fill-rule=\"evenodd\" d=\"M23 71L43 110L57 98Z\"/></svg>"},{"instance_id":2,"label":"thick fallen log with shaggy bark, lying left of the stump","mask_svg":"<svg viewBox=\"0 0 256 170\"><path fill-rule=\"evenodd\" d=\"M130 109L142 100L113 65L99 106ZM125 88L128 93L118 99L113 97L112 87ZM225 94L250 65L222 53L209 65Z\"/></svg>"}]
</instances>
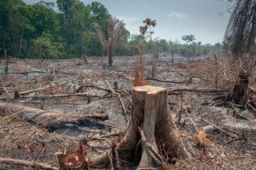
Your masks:
<instances>
[{"instance_id":1,"label":"thick fallen log with shaggy bark, lying left of the stump","mask_svg":"<svg viewBox=\"0 0 256 170\"><path fill-rule=\"evenodd\" d=\"M67 115L65 113L44 111L37 108L30 108L19 103L6 103L3 101L0 101L0 110L17 113L19 118L23 118L31 123L45 125L45 127L53 129L65 127L67 123L80 126L97 126L98 128L106 128L106 125L97 123L96 120L108 120L108 115Z\"/></svg>"}]
</instances>

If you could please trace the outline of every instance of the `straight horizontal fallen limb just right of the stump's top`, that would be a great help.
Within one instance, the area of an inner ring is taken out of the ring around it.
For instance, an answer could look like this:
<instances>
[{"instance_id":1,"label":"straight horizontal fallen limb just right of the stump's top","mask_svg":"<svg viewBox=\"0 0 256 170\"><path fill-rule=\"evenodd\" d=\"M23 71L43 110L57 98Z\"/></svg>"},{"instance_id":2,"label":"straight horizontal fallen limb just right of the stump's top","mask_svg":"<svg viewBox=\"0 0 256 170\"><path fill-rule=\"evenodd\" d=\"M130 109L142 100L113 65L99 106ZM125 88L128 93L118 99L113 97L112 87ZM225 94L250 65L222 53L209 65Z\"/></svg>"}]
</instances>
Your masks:
<instances>
[{"instance_id":1,"label":"straight horizontal fallen limb just right of the stump's top","mask_svg":"<svg viewBox=\"0 0 256 170\"><path fill-rule=\"evenodd\" d=\"M181 88L170 88L168 89L168 94L172 94L172 92L176 91L192 91L192 92L199 92L202 94L207 93L223 93L228 92L230 89L198 89L198 88L188 88L188 87L181 87Z\"/></svg>"}]
</instances>

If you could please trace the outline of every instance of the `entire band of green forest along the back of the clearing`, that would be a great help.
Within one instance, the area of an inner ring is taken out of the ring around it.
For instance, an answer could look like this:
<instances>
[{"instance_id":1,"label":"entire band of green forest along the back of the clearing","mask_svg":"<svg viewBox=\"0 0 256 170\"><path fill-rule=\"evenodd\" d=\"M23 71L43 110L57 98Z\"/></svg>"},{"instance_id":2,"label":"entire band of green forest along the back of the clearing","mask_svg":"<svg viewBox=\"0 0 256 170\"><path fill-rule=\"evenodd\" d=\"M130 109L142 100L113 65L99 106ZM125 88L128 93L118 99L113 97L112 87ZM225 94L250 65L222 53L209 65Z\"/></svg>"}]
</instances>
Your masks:
<instances>
[{"instance_id":1,"label":"entire band of green forest along the back of the clearing","mask_svg":"<svg viewBox=\"0 0 256 170\"><path fill-rule=\"evenodd\" d=\"M40 60L106 56L104 45L92 36L95 28L90 25L96 23L107 34L107 21L118 20L96 1L91 4L79 0L40 1L29 5L21 0L1 0L0 8L0 58L5 55ZM123 26L125 28L125 23ZM175 52L185 57L206 55L222 48L219 42L202 45L196 42L194 35L182 36L184 43L178 38L164 40L148 34L130 35L129 30L122 36L124 41L118 43L113 55L138 55L136 45L140 45L143 53L153 49L154 52Z\"/></svg>"}]
</instances>

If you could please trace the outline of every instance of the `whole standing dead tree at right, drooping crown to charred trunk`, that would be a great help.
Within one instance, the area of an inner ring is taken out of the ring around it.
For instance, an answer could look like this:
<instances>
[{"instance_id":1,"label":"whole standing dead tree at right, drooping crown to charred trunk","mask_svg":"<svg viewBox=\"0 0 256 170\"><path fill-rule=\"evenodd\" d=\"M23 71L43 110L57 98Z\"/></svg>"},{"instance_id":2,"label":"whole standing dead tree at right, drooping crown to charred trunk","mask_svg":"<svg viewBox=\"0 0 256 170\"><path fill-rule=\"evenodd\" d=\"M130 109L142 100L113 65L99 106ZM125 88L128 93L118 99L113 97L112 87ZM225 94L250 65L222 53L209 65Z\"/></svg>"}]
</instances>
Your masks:
<instances>
[{"instance_id":1,"label":"whole standing dead tree at right, drooping crown to charred trunk","mask_svg":"<svg viewBox=\"0 0 256 170\"><path fill-rule=\"evenodd\" d=\"M256 0L229 0L233 3L230 8L231 16L224 37L224 47L230 52L232 60L239 69L235 70L240 78L235 84L231 97L236 103L245 106L248 94L247 87L250 75L255 67L256 38Z\"/></svg>"}]
</instances>

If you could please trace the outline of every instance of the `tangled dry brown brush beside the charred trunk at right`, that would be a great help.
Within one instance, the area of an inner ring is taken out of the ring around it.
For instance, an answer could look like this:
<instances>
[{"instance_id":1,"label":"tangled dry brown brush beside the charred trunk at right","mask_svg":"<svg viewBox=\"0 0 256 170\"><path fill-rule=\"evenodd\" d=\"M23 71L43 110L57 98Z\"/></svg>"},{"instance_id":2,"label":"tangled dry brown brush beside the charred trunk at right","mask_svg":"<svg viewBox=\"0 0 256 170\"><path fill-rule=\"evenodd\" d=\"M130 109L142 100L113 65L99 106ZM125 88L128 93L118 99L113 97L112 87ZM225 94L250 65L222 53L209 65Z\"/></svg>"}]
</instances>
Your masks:
<instances>
[{"instance_id":1,"label":"tangled dry brown brush beside the charred trunk at right","mask_svg":"<svg viewBox=\"0 0 256 170\"><path fill-rule=\"evenodd\" d=\"M231 53L226 56L213 55L206 60L194 62L189 73L201 79L203 86L212 86L218 89L231 87L240 79L240 72L250 73L249 86L255 86L255 48L245 53L237 60Z\"/></svg>"}]
</instances>

